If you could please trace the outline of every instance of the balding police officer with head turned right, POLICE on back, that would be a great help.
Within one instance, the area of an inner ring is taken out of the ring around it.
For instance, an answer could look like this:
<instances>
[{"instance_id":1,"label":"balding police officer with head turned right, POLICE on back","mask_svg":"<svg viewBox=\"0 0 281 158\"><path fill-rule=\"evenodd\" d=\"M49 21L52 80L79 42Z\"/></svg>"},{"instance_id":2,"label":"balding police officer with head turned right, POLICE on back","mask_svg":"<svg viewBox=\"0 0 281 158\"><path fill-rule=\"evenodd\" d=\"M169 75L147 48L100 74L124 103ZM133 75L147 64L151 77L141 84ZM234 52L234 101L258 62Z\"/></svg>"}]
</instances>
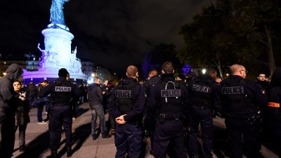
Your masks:
<instances>
[{"instance_id":1,"label":"balding police officer with head turned right, POLICE on back","mask_svg":"<svg viewBox=\"0 0 281 158\"><path fill-rule=\"evenodd\" d=\"M256 111L257 107L266 104L266 95L261 91L261 86L245 79L247 70L244 66L232 65L230 73L230 78L221 83L230 156L242 158L242 140L244 140L245 154L248 158L262 157L259 152L261 140Z\"/></svg>"}]
</instances>

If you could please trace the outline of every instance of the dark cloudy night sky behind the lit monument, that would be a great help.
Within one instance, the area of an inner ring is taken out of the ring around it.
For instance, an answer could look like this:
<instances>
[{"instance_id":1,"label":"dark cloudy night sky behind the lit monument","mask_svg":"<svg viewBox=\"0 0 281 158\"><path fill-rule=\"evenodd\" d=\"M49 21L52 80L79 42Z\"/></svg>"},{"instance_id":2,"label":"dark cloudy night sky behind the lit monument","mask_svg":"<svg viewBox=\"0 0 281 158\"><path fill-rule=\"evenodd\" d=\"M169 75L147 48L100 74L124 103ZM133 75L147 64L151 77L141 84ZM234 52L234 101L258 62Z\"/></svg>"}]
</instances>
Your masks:
<instances>
[{"instance_id":1,"label":"dark cloudy night sky behind the lit monument","mask_svg":"<svg viewBox=\"0 0 281 158\"><path fill-rule=\"evenodd\" d=\"M181 25L210 0L71 0L64 5L65 23L74 34L72 49L112 72L141 64L153 46L183 45ZM51 0L0 2L0 53L41 55L42 29L50 23Z\"/></svg>"}]
</instances>

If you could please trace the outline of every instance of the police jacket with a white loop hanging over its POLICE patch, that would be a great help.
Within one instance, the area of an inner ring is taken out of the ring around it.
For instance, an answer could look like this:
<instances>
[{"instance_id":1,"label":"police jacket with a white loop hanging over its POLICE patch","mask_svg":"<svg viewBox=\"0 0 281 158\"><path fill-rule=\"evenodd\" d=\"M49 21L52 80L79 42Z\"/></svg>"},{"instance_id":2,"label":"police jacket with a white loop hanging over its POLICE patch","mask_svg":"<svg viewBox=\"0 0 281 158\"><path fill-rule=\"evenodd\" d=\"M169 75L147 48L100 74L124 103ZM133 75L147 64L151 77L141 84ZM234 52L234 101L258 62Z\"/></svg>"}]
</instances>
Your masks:
<instances>
[{"instance_id":1,"label":"police jacket with a white loop hanging over its POLICE patch","mask_svg":"<svg viewBox=\"0 0 281 158\"><path fill-rule=\"evenodd\" d=\"M166 114L166 119L180 119L188 111L188 90L175 81L174 74L163 74L159 84L150 88L148 107L155 108L156 115Z\"/></svg>"}]
</instances>

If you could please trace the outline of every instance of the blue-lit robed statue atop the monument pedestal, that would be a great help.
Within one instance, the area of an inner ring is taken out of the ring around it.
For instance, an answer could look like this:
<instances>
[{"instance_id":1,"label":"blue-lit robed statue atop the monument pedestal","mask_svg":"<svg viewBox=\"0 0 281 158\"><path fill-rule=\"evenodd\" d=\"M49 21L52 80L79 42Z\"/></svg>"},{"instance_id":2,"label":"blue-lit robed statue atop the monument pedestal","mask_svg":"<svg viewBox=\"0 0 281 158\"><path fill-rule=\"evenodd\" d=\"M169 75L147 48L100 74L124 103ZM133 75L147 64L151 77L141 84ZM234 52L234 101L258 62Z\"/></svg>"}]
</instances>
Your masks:
<instances>
[{"instance_id":1,"label":"blue-lit robed statue atop the monument pedestal","mask_svg":"<svg viewBox=\"0 0 281 158\"><path fill-rule=\"evenodd\" d=\"M63 16L63 4L70 0L53 0L51 5L51 24L65 25L65 18Z\"/></svg>"}]
</instances>

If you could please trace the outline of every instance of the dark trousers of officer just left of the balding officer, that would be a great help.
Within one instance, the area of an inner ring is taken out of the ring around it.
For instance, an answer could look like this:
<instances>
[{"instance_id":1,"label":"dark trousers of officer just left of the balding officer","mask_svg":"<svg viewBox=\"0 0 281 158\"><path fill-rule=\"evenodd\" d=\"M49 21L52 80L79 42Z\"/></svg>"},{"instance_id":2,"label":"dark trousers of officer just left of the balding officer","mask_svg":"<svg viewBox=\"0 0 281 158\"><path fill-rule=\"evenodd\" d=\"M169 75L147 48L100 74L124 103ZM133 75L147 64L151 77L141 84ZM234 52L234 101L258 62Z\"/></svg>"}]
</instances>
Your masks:
<instances>
[{"instance_id":1,"label":"dark trousers of officer just left of the balding officer","mask_svg":"<svg viewBox=\"0 0 281 158\"><path fill-rule=\"evenodd\" d=\"M213 147L213 117L211 110L204 107L192 107L190 108L189 115L189 126L190 126L190 152L191 156L197 156L198 152L198 141L197 132L200 124L202 131L202 149L205 158L213 157L211 150Z\"/></svg>"}]
</instances>

